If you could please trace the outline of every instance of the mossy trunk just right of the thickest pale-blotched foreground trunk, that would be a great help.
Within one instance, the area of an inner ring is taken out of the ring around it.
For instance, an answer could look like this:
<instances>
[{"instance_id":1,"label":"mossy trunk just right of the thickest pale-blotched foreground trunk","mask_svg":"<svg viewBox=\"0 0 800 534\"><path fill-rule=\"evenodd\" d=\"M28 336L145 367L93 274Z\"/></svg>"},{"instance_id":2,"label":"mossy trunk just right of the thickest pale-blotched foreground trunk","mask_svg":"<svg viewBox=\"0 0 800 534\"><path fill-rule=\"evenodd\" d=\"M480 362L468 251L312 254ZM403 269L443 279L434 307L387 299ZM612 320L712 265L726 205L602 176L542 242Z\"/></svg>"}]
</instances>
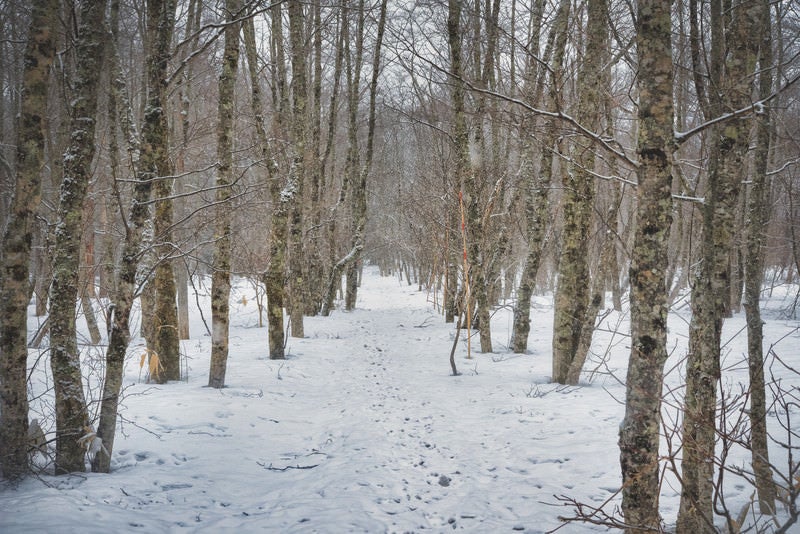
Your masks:
<instances>
[{"instance_id":1,"label":"mossy trunk just right of the thickest pale-blotched foreground trunk","mask_svg":"<svg viewBox=\"0 0 800 534\"><path fill-rule=\"evenodd\" d=\"M748 50L752 20L745 2L729 11L711 2L711 71L713 90L707 118L741 109L751 101L755 57ZM757 17L756 17L757 18ZM729 27L726 27L729 22ZM750 123L734 118L710 131L708 188L701 207L701 260L692 288L692 320L686 364L683 461L678 529L716 532L714 466L717 382L720 379L722 323L730 311L730 254L735 213L743 178Z\"/></svg>"}]
</instances>

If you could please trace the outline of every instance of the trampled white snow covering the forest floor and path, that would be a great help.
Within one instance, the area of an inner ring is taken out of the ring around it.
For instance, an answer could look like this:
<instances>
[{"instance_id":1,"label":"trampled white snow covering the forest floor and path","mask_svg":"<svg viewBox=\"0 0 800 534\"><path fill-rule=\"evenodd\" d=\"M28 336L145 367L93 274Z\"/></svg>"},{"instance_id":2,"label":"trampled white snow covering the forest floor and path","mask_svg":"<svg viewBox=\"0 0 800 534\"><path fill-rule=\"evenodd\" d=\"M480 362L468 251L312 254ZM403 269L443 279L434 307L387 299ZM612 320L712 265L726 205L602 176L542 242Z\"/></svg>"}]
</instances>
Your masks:
<instances>
[{"instance_id":1,"label":"trampled white snow covering the forest floor and path","mask_svg":"<svg viewBox=\"0 0 800 534\"><path fill-rule=\"evenodd\" d=\"M529 354L508 352L511 312L501 308L492 323L495 353L467 359L462 341L454 377L453 326L416 286L365 269L358 309L307 318L306 337L289 339L285 361L268 359L247 288L242 283L232 297L225 389L205 387L210 338L196 309L183 345L187 381L145 383L135 340L112 473L0 486L0 532L537 533L573 514L560 496L593 506L612 499L609 511L618 504L625 315L604 319L581 386L560 387L549 383L550 297L534 301ZM797 368L798 322L779 313L793 296L779 288L767 302L766 344L780 340L776 353ZM669 368L686 353L688 313L684 306L671 314ZM746 378L743 326L737 315L725 328L723 383L731 390ZM46 367L34 373L36 390L48 382ZM785 386L800 384L773 369ZM680 383L680 365L667 382ZM37 399L32 416L46 415L51 402ZM779 463L782 450L774 454ZM731 461L747 465L741 452ZM738 511L752 490L727 480L728 504ZM667 476L668 523L677 506ZM598 530L572 523L561 532Z\"/></svg>"}]
</instances>

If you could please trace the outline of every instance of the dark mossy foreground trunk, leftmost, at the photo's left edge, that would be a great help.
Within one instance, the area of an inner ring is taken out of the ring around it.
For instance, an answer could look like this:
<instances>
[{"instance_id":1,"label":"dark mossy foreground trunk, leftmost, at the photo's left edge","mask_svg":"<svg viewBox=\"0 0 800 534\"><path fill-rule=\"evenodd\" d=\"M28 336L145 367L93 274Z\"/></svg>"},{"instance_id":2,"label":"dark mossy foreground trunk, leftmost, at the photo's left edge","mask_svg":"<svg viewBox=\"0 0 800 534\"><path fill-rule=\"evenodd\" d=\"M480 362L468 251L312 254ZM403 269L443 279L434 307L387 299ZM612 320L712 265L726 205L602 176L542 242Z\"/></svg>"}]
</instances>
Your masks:
<instances>
[{"instance_id":1,"label":"dark mossy foreground trunk, leftmost, at the photo's left edge","mask_svg":"<svg viewBox=\"0 0 800 534\"><path fill-rule=\"evenodd\" d=\"M0 474L28 470L28 303L33 223L41 200L47 87L55 57L55 0L34 0L25 48L17 130L17 175L0 271ZM46 299L45 299L46 300Z\"/></svg>"}]
</instances>

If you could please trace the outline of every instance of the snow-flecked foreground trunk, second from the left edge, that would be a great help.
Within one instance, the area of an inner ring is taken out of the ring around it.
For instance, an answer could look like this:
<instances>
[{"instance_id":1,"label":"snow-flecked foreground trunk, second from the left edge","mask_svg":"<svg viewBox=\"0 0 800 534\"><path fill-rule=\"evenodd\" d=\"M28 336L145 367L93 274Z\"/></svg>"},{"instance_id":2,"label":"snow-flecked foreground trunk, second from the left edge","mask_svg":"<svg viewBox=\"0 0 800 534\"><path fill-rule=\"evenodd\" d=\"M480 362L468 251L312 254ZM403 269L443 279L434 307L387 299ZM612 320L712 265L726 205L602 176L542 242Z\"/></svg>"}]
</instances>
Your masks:
<instances>
[{"instance_id":1,"label":"snow-flecked foreground trunk, second from the left edge","mask_svg":"<svg viewBox=\"0 0 800 534\"><path fill-rule=\"evenodd\" d=\"M105 2L80 5L77 71L70 143L64 154L64 180L53 250L50 298L50 366L56 396L56 474L85 471L85 450L78 439L89 424L75 330L78 300L83 202L95 153L97 86L102 57Z\"/></svg>"}]
</instances>

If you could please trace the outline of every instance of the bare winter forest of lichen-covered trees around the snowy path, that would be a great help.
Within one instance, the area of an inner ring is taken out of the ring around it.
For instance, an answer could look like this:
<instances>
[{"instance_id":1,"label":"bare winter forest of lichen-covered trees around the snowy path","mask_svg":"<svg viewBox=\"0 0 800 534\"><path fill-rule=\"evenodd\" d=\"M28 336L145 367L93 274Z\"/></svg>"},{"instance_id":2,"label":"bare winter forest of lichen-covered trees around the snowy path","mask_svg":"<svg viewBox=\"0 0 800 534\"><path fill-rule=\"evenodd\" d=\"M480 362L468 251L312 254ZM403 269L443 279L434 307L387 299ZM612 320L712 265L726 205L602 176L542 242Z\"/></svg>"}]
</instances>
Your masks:
<instances>
[{"instance_id":1,"label":"bare winter forest of lichen-covered trees around the snowy path","mask_svg":"<svg viewBox=\"0 0 800 534\"><path fill-rule=\"evenodd\" d=\"M374 268L454 330L454 376L530 354L550 295L549 379L581 386L625 314L619 503L575 501L577 522L747 531L724 504L732 441L750 531L796 528L800 370L762 316L779 286L781 317L800 305L796 0L0 0L0 25L5 481L113 473L126 364L169 388L207 336L209 391L228 387L237 288L264 357L291 360L310 321L358 310Z\"/></svg>"}]
</instances>

